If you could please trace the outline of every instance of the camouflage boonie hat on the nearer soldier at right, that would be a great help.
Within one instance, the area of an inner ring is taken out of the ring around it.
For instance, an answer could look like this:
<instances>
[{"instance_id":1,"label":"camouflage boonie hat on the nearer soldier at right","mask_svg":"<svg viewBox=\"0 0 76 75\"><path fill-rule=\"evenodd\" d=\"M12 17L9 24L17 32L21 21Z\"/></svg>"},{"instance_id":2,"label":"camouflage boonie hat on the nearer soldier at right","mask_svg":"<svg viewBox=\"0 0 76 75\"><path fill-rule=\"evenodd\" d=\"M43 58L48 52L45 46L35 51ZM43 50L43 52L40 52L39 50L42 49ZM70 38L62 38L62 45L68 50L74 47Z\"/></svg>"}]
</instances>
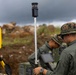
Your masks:
<instances>
[{"instance_id":1,"label":"camouflage boonie hat on the nearer soldier at right","mask_svg":"<svg viewBox=\"0 0 76 75\"><path fill-rule=\"evenodd\" d=\"M66 34L71 34L71 33L76 33L76 23L69 22L69 23L64 24L61 27L60 35L66 35Z\"/></svg>"}]
</instances>

